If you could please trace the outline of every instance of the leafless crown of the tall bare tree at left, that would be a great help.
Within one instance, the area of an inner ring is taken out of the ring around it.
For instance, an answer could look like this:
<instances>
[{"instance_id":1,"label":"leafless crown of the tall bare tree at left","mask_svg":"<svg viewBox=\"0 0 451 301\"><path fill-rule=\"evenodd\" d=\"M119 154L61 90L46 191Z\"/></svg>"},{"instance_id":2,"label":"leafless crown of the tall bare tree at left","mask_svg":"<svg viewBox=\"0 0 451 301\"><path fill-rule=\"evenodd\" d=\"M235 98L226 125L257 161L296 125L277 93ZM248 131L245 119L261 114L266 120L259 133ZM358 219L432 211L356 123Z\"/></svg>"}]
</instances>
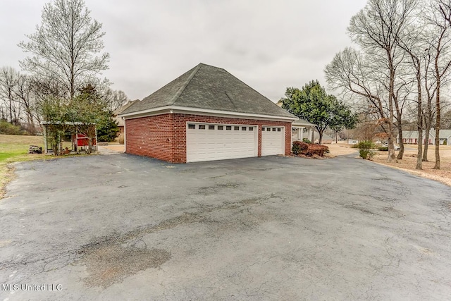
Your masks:
<instances>
[{"instance_id":1,"label":"leafless crown of the tall bare tree at left","mask_svg":"<svg viewBox=\"0 0 451 301\"><path fill-rule=\"evenodd\" d=\"M44 6L42 23L19 47L32 56L20 66L44 82L56 81L72 99L86 82L108 68L109 54L101 54L105 32L92 21L82 0L54 0Z\"/></svg>"}]
</instances>

